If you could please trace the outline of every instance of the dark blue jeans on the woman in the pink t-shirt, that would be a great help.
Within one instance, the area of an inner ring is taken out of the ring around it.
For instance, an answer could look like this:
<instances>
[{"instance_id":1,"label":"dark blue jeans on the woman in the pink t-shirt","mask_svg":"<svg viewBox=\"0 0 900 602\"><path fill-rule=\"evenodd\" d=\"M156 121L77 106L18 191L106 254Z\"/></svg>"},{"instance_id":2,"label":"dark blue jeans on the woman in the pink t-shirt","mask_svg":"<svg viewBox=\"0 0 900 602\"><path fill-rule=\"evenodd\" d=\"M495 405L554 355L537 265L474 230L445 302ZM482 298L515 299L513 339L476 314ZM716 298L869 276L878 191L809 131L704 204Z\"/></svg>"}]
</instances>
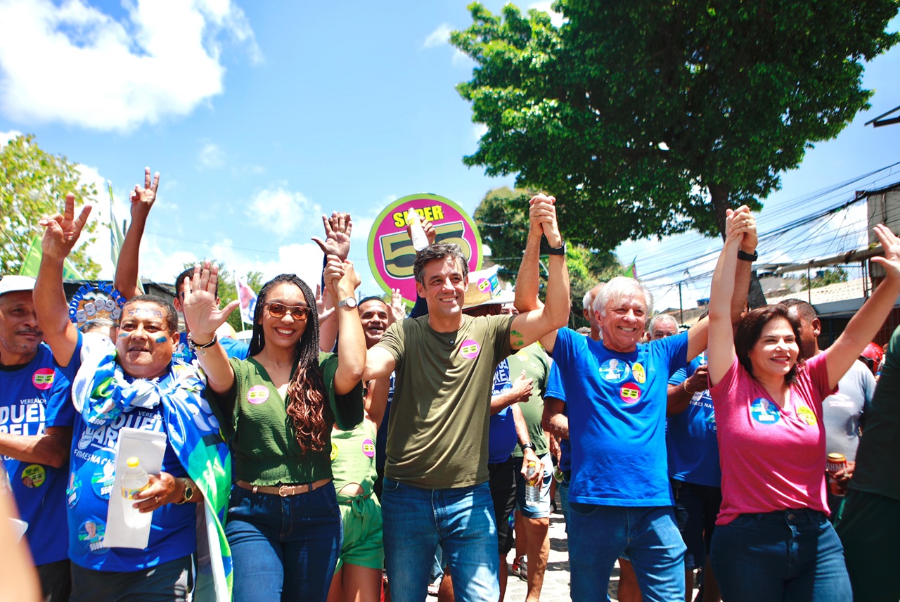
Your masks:
<instances>
[{"instance_id":1,"label":"dark blue jeans on the woman in the pink t-shirt","mask_svg":"<svg viewBox=\"0 0 900 602\"><path fill-rule=\"evenodd\" d=\"M742 514L716 526L711 554L728 602L853 599L841 540L822 512Z\"/></svg>"}]
</instances>

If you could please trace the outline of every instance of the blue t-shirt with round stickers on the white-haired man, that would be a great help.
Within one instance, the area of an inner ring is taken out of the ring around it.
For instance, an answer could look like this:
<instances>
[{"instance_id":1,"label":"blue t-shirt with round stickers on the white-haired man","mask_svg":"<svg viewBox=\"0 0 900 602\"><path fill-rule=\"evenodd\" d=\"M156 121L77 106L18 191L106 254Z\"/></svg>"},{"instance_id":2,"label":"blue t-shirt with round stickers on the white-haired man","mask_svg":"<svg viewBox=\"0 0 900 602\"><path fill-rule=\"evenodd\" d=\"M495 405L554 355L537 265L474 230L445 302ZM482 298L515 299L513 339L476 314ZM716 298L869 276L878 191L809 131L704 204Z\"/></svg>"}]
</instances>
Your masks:
<instances>
[{"instance_id":1,"label":"blue t-shirt with round stickers on the white-haired man","mask_svg":"<svg viewBox=\"0 0 900 602\"><path fill-rule=\"evenodd\" d=\"M687 361L688 333L617 353L560 328L572 442L569 499L599 506L671 506L666 466L669 377Z\"/></svg>"}]
</instances>

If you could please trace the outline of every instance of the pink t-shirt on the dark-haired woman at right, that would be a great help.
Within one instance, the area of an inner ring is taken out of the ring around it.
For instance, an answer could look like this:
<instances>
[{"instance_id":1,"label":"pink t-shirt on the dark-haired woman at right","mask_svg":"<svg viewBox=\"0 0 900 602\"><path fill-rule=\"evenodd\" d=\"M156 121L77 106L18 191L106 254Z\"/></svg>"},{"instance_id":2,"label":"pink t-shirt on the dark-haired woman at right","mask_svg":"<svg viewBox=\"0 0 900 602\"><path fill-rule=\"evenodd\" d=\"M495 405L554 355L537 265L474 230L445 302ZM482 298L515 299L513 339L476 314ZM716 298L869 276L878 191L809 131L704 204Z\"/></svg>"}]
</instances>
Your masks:
<instances>
[{"instance_id":1,"label":"pink t-shirt on the dark-haired woman at right","mask_svg":"<svg viewBox=\"0 0 900 602\"><path fill-rule=\"evenodd\" d=\"M829 514L825 498L828 388L825 354L802 364L783 409L734 357L709 391L722 462L722 507L716 525L739 514L809 508Z\"/></svg>"}]
</instances>

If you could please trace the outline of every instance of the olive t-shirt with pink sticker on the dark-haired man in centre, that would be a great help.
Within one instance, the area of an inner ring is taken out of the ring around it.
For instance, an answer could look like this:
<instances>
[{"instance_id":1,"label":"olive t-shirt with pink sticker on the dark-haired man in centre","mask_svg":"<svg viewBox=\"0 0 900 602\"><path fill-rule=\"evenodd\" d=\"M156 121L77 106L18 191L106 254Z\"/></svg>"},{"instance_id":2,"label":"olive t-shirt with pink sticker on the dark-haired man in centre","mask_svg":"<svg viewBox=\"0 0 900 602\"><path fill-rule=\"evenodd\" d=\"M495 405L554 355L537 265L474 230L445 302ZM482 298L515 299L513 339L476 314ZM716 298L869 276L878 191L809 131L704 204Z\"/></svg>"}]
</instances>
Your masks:
<instances>
[{"instance_id":1,"label":"olive t-shirt with pink sticker on the dark-haired man in centre","mask_svg":"<svg viewBox=\"0 0 900 602\"><path fill-rule=\"evenodd\" d=\"M514 316L463 317L436 332L428 316L395 322L378 346L397 364L384 473L426 489L488 480L488 419L497 364Z\"/></svg>"}]
</instances>

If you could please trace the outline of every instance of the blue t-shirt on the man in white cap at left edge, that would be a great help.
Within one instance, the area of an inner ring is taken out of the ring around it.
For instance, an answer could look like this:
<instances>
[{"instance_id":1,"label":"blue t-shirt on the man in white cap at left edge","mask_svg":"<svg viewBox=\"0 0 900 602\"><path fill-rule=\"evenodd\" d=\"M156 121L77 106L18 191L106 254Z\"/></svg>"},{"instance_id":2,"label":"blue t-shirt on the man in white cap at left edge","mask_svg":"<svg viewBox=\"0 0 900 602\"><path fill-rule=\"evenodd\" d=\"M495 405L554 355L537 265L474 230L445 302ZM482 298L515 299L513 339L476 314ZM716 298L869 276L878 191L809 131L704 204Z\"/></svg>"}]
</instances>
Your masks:
<instances>
[{"instance_id":1,"label":"blue t-shirt on the man in white cap at left edge","mask_svg":"<svg viewBox=\"0 0 900 602\"><path fill-rule=\"evenodd\" d=\"M15 370L0 369L0 433L43 435L48 427L71 427L75 408L69 401L75 370L53 362L49 346ZM68 462L59 468L3 456L19 515L28 523L25 537L36 565L66 560ZM0 483L0 495L6 483Z\"/></svg>"}]
</instances>

